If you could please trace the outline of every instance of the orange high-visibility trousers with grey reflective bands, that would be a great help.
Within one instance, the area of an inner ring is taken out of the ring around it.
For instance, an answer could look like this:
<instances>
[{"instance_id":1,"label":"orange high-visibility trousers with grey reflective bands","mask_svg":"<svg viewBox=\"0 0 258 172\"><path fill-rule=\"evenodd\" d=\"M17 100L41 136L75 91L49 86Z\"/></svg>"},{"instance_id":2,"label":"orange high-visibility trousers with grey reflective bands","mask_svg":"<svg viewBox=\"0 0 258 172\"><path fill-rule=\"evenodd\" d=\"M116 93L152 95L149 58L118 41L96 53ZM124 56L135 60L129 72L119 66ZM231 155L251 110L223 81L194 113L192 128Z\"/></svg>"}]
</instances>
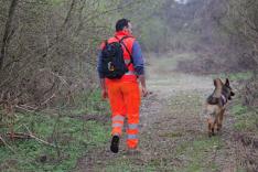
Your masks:
<instances>
[{"instance_id":1,"label":"orange high-visibility trousers with grey reflective bands","mask_svg":"<svg viewBox=\"0 0 258 172\"><path fill-rule=\"evenodd\" d=\"M138 125L140 114L140 89L137 82L108 82L108 97L111 107L112 136L121 136L123 120L127 118L127 146L138 146Z\"/></svg>"}]
</instances>

